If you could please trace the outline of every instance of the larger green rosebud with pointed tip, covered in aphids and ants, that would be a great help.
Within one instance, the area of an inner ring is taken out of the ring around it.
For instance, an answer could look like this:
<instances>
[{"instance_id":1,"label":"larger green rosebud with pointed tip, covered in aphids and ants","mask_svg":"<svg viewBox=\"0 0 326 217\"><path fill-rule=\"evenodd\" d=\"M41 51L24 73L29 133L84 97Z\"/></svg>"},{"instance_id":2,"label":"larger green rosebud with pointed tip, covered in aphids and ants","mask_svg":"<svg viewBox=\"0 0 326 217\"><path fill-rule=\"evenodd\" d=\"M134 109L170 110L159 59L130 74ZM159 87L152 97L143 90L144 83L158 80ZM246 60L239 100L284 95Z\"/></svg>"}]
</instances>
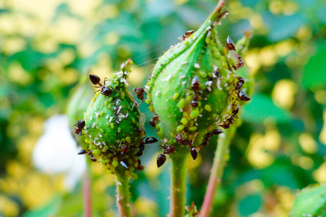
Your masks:
<instances>
[{"instance_id":1,"label":"larger green rosebud with pointed tip, covered in aphids and ants","mask_svg":"<svg viewBox=\"0 0 326 217\"><path fill-rule=\"evenodd\" d=\"M226 13L216 8L154 66L146 102L160 118L156 128L166 144L206 144L214 129L233 124L239 99L250 100L241 90L244 80L236 75L243 62L235 44L228 38L222 45L217 37L216 25Z\"/></svg>"}]
</instances>

